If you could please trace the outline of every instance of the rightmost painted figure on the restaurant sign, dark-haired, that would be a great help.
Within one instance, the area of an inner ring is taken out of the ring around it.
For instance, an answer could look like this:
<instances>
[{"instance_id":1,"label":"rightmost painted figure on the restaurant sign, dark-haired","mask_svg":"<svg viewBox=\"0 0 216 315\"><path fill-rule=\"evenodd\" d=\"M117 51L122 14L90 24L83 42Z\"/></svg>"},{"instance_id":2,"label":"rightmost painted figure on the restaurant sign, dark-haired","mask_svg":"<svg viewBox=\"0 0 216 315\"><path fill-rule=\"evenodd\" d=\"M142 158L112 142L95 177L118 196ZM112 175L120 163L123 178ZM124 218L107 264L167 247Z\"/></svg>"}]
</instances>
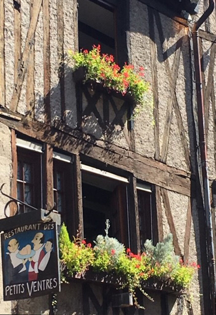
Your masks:
<instances>
[{"instance_id":1,"label":"rightmost painted figure on the restaurant sign, dark-haired","mask_svg":"<svg viewBox=\"0 0 216 315\"><path fill-rule=\"evenodd\" d=\"M47 240L45 246L46 254L43 257L39 269L39 277L40 279L45 279L52 277L56 272L56 259L55 253L53 253L53 239L50 238Z\"/></svg>"}]
</instances>

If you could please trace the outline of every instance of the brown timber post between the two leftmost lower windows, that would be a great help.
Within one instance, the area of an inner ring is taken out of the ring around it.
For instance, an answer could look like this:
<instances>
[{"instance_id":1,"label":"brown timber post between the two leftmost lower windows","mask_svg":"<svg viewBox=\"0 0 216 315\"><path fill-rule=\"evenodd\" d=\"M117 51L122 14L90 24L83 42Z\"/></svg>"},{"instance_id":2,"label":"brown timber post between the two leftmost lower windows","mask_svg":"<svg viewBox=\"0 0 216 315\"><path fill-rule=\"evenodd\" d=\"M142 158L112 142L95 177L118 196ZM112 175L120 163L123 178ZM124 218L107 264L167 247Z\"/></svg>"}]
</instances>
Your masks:
<instances>
[{"instance_id":1,"label":"brown timber post between the two leftmost lower windows","mask_svg":"<svg viewBox=\"0 0 216 315\"><path fill-rule=\"evenodd\" d=\"M53 147L49 144L45 146L45 183L46 183L46 203L47 209L53 208Z\"/></svg>"}]
</instances>

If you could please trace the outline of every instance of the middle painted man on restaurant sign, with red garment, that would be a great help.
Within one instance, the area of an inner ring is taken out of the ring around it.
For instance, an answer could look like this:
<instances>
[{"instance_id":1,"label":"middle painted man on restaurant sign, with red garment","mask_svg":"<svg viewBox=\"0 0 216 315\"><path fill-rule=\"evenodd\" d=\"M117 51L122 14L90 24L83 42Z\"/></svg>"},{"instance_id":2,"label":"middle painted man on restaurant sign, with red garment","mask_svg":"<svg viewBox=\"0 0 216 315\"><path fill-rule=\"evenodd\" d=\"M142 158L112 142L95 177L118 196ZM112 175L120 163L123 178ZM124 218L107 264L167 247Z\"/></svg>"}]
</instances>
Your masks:
<instances>
[{"instance_id":1,"label":"middle painted man on restaurant sign, with red garment","mask_svg":"<svg viewBox=\"0 0 216 315\"><path fill-rule=\"evenodd\" d=\"M45 253L43 251L44 247L44 234L42 232L38 232L35 234L35 237L31 241L34 244L33 249L35 250L35 255L29 258L29 273L28 278L29 281L36 281L38 278L38 268L41 264Z\"/></svg>"}]
</instances>

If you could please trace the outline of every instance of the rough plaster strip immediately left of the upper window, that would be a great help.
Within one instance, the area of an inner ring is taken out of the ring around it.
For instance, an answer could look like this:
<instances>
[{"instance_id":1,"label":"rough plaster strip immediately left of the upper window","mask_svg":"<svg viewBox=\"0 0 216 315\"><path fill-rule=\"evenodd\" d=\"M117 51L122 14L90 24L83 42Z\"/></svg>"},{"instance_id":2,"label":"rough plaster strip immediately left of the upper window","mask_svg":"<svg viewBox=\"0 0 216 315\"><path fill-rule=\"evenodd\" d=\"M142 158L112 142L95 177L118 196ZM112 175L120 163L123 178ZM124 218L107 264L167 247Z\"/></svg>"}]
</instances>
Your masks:
<instances>
[{"instance_id":1,"label":"rough plaster strip immediately left of the upper window","mask_svg":"<svg viewBox=\"0 0 216 315\"><path fill-rule=\"evenodd\" d=\"M63 1L64 18L64 54L68 49L74 50L74 3L73 1ZM72 69L65 64L64 68L64 97L65 97L65 118L66 123L71 128L76 128L76 97L75 83L73 81Z\"/></svg>"}]
</instances>

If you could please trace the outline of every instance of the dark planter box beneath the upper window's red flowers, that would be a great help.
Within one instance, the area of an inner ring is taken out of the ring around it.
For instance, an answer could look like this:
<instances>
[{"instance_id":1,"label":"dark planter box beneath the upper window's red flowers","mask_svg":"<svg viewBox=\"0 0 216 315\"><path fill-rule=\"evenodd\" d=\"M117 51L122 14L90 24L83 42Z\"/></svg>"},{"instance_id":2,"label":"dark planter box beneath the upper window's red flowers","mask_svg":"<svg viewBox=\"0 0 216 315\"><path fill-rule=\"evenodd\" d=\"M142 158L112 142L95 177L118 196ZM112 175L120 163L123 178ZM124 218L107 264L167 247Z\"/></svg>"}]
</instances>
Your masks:
<instances>
[{"instance_id":1,"label":"dark planter box beneath the upper window's red flowers","mask_svg":"<svg viewBox=\"0 0 216 315\"><path fill-rule=\"evenodd\" d=\"M74 81L76 83L82 84L83 81L85 80L85 77L86 77L86 71L87 71L86 67L80 67L80 68L76 69L75 72L73 72ZM130 95L129 93L127 93L123 96L121 93L116 92L113 89L109 89L109 88L103 86L103 83L98 83L95 80L87 80L85 82L85 84L89 88L93 89L94 91L99 91L99 92L102 92L104 94L117 97L121 100L127 101L131 105L134 105L134 103L135 103L134 97L132 95Z\"/></svg>"}]
</instances>

